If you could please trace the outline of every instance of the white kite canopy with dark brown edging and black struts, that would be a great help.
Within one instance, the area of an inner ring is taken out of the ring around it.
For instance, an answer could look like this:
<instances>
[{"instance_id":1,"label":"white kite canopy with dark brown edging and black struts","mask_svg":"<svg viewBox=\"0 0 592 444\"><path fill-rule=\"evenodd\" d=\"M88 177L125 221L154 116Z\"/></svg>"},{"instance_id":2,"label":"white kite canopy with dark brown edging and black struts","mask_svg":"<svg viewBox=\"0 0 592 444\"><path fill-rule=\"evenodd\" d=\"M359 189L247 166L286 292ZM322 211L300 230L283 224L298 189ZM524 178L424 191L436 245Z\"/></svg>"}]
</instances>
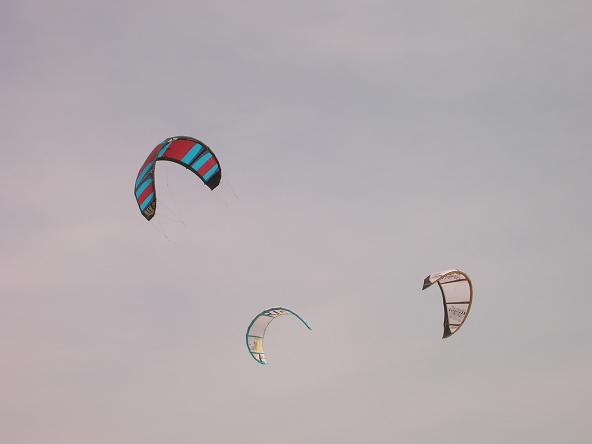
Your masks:
<instances>
[{"instance_id":1,"label":"white kite canopy with dark brown edging and black struts","mask_svg":"<svg viewBox=\"0 0 592 444\"><path fill-rule=\"evenodd\" d=\"M444 303L444 339L456 333L467 320L473 303L473 284L465 272L446 270L425 278L422 290L435 283L440 287Z\"/></svg>"}]
</instances>

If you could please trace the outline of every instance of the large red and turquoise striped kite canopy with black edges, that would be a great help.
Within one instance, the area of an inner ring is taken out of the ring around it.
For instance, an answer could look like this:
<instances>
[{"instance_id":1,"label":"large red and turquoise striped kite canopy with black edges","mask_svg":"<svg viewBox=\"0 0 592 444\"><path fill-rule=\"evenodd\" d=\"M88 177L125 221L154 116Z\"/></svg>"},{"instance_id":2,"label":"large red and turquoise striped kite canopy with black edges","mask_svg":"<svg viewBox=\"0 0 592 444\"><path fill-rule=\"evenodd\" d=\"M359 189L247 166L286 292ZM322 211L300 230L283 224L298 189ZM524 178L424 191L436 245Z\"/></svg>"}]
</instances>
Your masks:
<instances>
[{"instance_id":1,"label":"large red and turquoise striped kite canopy with black edges","mask_svg":"<svg viewBox=\"0 0 592 444\"><path fill-rule=\"evenodd\" d=\"M154 167L159 160L183 165L195 173L211 190L220 184L222 170L216 155L203 142L193 137L169 137L152 150L136 178L134 194L142 215L150 220L156 212Z\"/></svg>"}]
</instances>

